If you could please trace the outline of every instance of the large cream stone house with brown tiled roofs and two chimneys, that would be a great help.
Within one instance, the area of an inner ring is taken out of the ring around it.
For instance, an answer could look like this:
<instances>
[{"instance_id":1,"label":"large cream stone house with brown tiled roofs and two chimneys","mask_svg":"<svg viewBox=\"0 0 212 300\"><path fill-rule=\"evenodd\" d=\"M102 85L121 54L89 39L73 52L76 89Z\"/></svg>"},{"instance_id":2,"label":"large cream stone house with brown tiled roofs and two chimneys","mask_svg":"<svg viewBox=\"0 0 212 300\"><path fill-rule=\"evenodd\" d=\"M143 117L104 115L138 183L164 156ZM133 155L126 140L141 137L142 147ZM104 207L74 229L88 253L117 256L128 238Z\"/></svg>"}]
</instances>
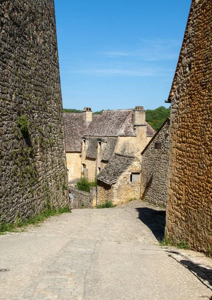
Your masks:
<instances>
[{"instance_id":1,"label":"large cream stone house with brown tiled roofs and two chimneys","mask_svg":"<svg viewBox=\"0 0 212 300\"><path fill-rule=\"evenodd\" d=\"M63 113L69 182L86 176L93 180L117 152L140 157L155 131L145 121L142 106L92 113Z\"/></svg>"}]
</instances>

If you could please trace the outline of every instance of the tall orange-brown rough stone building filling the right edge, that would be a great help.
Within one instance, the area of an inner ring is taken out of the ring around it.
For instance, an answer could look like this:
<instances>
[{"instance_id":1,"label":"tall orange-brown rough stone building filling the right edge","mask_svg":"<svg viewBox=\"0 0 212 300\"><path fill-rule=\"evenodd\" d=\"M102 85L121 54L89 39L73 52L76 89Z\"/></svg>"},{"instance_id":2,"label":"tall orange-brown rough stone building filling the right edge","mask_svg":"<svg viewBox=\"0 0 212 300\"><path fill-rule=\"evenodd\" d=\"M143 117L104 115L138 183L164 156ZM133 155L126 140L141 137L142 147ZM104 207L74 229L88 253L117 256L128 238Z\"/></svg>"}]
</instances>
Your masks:
<instances>
[{"instance_id":1,"label":"tall orange-brown rough stone building filling the right edge","mask_svg":"<svg viewBox=\"0 0 212 300\"><path fill-rule=\"evenodd\" d=\"M192 0L171 104L167 238L212 248L212 1Z\"/></svg>"}]
</instances>

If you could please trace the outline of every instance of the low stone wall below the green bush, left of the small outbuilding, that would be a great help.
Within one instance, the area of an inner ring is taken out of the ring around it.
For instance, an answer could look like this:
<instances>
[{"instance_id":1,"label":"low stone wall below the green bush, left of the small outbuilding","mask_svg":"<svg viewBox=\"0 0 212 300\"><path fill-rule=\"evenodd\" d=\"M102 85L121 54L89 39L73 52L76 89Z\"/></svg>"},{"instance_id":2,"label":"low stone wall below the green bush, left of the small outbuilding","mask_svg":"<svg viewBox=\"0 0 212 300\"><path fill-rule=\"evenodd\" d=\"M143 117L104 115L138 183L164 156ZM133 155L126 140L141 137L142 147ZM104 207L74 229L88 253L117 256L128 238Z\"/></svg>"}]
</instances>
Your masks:
<instances>
[{"instance_id":1,"label":"low stone wall below the green bush, left of the small outbuilding","mask_svg":"<svg viewBox=\"0 0 212 300\"><path fill-rule=\"evenodd\" d=\"M90 192L87 192L68 186L68 191L72 194L71 208L87 208L96 205L96 187L90 187Z\"/></svg>"}]
</instances>

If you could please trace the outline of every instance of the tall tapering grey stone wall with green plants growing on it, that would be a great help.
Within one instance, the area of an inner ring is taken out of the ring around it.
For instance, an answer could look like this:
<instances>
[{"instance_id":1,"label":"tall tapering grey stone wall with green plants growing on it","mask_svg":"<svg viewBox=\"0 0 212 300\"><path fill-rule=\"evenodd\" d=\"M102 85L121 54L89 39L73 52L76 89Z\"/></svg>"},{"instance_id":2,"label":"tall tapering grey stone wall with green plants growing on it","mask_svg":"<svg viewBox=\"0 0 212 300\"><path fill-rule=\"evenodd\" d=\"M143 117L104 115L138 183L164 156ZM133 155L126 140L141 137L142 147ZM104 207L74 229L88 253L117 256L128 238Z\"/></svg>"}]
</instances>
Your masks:
<instances>
[{"instance_id":1,"label":"tall tapering grey stone wall with green plants growing on it","mask_svg":"<svg viewBox=\"0 0 212 300\"><path fill-rule=\"evenodd\" d=\"M53 0L0 1L0 221L68 201Z\"/></svg>"}]
</instances>

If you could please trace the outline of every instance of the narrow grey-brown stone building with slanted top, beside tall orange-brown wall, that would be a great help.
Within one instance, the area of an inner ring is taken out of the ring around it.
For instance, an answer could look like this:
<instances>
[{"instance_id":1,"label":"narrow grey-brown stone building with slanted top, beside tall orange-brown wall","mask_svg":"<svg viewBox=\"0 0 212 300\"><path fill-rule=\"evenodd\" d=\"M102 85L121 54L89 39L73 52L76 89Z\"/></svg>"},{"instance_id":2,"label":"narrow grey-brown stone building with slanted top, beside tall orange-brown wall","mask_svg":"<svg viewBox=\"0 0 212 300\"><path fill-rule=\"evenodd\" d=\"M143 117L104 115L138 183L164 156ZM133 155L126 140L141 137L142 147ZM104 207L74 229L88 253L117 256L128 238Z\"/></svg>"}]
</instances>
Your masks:
<instances>
[{"instance_id":1,"label":"narrow grey-brown stone building with slanted top, beside tall orange-brown wall","mask_svg":"<svg viewBox=\"0 0 212 300\"><path fill-rule=\"evenodd\" d=\"M141 152L141 199L166 206L170 118Z\"/></svg>"}]
</instances>

